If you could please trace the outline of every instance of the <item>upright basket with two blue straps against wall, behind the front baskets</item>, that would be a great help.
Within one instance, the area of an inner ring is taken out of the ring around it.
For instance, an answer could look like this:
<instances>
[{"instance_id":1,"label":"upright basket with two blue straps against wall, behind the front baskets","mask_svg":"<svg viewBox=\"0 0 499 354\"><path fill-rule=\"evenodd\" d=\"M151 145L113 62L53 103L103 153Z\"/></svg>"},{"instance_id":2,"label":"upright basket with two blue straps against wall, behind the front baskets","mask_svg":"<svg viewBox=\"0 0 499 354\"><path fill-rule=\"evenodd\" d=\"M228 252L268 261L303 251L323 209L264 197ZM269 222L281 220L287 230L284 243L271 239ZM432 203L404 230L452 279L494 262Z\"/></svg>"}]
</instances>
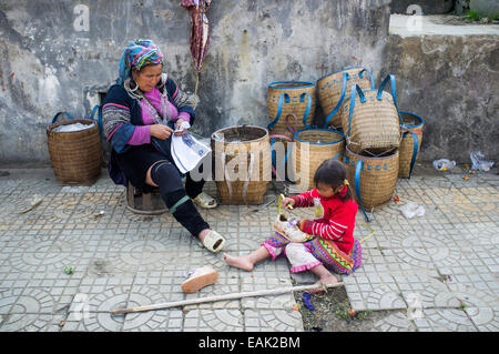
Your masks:
<instances>
[{"instance_id":1,"label":"upright basket with two blue straps against wall, behind the front baskets","mask_svg":"<svg viewBox=\"0 0 499 354\"><path fill-rule=\"evenodd\" d=\"M315 117L315 83L307 81L277 81L267 88L267 109L271 123L267 129L286 129L283 118L295 114L297 129L312 127Z\"/></svg>"}]
</instances>

